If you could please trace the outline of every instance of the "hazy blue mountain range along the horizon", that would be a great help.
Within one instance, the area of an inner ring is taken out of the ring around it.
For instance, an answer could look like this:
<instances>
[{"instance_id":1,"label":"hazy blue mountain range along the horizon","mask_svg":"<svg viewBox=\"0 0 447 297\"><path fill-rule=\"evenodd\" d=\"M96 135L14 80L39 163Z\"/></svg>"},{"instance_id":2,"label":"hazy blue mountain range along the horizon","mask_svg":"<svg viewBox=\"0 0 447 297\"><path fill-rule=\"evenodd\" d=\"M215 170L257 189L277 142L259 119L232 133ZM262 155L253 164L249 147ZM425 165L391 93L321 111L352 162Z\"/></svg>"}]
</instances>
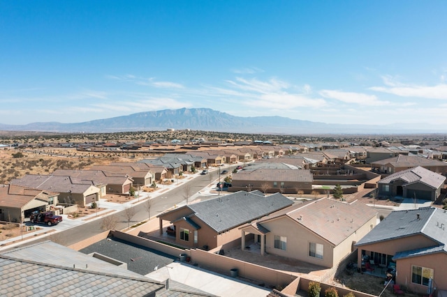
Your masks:
<instances>
[{"instance_id":1,"label":"hazy blue mountain range along the horizon","mask_svg":"<svg viewBox=\"0 0 447 297\"><path fill-rule=\"evenodd\" d=\"M342 116L342 115L341 115ZM38 132L124 132L191 129L260 134L396 134L445 132L424 123L393 125L347 125L301 121L282 116L232 116L208 108L164 109L82 123L37 122L26 125L0 123L0 130Z\"/></svg>"}]
</instances>

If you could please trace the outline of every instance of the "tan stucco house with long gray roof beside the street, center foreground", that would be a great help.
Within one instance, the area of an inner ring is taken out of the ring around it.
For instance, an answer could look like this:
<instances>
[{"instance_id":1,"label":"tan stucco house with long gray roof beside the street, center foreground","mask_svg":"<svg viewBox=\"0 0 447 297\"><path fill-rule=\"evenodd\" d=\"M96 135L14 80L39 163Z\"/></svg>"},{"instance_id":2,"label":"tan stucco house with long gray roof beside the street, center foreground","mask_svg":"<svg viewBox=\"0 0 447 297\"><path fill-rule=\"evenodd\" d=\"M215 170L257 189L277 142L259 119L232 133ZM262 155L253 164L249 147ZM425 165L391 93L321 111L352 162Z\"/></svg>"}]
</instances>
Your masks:
<instances>
[{"instance_id":1,"label":"tan stucco house with long gray roof beside the street, center foreground","mask_svg":"<svg viewBox=\"0 0 447 297\"><path fill-rule=\"evenodd\" d=\"M188 204L158 215L160 234L163 221L173 224L175 242L189 248L213 249L233 241L240 242L238 227L263 218L293 202L281 194L264 196L261 192L235 192L195 204Z\"/></svg>"}]
</instances>

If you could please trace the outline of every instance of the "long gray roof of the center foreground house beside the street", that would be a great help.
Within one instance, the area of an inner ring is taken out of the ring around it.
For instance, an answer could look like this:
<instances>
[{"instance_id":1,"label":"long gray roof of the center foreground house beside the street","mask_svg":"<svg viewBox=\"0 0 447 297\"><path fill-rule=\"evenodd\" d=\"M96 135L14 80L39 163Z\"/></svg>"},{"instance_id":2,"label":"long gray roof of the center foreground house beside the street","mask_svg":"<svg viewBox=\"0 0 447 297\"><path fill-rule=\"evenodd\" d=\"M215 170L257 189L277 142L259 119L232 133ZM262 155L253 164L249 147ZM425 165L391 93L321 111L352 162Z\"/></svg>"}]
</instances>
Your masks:
<instances>
[{"instance_id":1,"label":"long gray roof of the center foreground house beside the street","mask_svg":"<svg viewBox=\"0 0 447 297\"><path fill-rule=\"evenodd\" d=\"M264 197L240 191L225 197L190 204L187 207L197 218L221 233L292 204L291 200L279 193Z\"/></svg>"}]
</instances>

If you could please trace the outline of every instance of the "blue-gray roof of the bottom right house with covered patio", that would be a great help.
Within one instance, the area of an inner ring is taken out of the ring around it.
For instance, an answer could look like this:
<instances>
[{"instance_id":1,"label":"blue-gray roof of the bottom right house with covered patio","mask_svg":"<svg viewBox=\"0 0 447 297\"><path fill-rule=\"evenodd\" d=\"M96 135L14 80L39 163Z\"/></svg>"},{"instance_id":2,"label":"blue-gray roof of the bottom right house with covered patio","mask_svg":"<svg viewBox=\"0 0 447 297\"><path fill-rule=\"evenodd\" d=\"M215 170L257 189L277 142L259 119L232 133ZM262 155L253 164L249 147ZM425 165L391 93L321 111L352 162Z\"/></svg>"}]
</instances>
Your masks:
<instances>
[{"instance_id":1,"label":"blue-gray roof of the bottom right house with covered patio","mask_svg":"<svg viewBox=\"0 0 447 297\"><path fill-rule=\"evenodd\" d=\"M395 238L423 234L434 244L447 243L447 212L440 208L425 207L408 211L393 211L372 231L358 241L365 245Z\"/></svg>"}]
</instances>

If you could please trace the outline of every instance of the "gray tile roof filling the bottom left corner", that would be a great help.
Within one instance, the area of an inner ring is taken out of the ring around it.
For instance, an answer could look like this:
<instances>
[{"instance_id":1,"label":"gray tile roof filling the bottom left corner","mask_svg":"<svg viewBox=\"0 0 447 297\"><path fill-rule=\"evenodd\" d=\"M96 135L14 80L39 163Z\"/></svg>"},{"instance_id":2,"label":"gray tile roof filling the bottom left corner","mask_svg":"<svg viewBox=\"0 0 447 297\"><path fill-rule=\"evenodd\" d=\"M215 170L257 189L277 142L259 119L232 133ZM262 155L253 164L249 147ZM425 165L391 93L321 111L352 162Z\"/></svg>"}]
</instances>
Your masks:
<instances>
[{"instance_id":1,"label":"gray tile roof filling the bottom left corner","mask_svg":"<svg viewBox=\"0 0 447 297\"><path fill-rule=\"evenodd\" d=\"M27 248L0 254L0 291L2 296L147 296L164 287L159 282L147 279L142 275L133 273L130 276L126 270L115 265L115 271L101 271L89 268L73 268L65 266L68 259L61 259L64 263L57 262L56 257L50 260L46 256L41 259L38 256L43 251L38 248L33 259L29 259L32 250L36 248L31 245ZM64 251L73 255L69 248L52 243L51 246L57 254ZM45 253L44 253L45 254ZM85 257L91 266L98 259L87 255ZM103 262L105 263L105 262ZM106 263L104 264L106 265Z\"/></svg>"}]
</instances>

